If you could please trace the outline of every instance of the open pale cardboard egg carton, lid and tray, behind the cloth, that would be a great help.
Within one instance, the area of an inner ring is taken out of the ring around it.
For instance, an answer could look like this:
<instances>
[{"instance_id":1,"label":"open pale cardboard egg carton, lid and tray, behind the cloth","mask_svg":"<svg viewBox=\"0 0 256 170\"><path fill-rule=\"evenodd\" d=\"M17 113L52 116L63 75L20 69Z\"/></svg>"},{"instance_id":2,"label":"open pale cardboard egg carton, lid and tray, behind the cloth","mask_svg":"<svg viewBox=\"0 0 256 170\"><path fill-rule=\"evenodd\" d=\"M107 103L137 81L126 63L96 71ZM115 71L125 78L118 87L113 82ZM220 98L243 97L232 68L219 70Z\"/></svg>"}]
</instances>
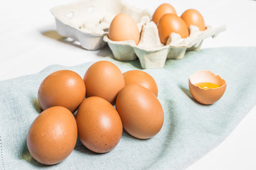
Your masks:
<instances>
[{"instance_id":1,"label":"open pale cardboard egg carton, lid and tray, behind the cloth","mask_svg":"<svg viewBox=\"0 0 256 170\"><path fill-rule=\"evenodd\" d=\"M181 59L187 50L199 50L204 39L215 38L225 30L225 26L207 26L204 31L191 26L188 38L171 33L163 45L156 24L150 21L151 12L131 6L124 0L81 0L55 6L50 11L55 16L60 35L77 40L86 50L99 50L108 44L115 59L131 61L138 57L144 69L164 67L167 59ZM127 13L137 23L141 33L139 45L133 40L117 42L107 37L110 23L118 13Z\"/></svg>"}]
</instances>

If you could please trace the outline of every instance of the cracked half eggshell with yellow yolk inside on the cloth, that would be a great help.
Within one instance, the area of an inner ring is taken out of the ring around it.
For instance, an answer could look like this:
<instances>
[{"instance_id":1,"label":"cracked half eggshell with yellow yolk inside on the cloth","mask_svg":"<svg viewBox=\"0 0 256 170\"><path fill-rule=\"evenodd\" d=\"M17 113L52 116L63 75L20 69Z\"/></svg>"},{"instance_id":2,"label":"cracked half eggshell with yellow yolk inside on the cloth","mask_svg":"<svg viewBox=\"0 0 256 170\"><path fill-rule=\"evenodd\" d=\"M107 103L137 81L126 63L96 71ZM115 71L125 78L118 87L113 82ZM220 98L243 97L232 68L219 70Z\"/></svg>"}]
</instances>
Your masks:
<instances>
[{"instance_id":1,"label":"cracked half eggshell with yellow yolk inside on the cloth","mask_svg":"<svg viewBox=\"0 0 256 170\"><path fill-rule=\"evenodd\" d=\"M227 85L220 76L201 70L189 76L188 86L196 101L209 105L223 96Z\"/></svg>"}]
</instances>

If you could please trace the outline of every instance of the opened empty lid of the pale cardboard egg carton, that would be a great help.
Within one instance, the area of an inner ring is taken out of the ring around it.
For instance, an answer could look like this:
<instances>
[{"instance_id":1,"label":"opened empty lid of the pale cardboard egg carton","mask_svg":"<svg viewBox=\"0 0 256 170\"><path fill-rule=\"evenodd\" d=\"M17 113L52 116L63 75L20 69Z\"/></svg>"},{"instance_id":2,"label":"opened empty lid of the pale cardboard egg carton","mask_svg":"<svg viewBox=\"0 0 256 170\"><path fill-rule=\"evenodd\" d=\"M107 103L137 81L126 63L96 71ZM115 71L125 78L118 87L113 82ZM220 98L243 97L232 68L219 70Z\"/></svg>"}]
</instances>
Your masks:
<instances>
[{"instance_id":1,"label":"opened empty lid of the pale cardboard egg carton","mask_svg":"<svg viewBox=\"0 0 256 170\"><path fill-rule=\"evenodd\" d=\"M149 21L150 11L141 10L122 0L82 0L50 9L55 16L57 32L80 42L87 50L99 50L107 42L103 40L114 16L127 13L139 29Z\"/></svg>"}]
</instances>

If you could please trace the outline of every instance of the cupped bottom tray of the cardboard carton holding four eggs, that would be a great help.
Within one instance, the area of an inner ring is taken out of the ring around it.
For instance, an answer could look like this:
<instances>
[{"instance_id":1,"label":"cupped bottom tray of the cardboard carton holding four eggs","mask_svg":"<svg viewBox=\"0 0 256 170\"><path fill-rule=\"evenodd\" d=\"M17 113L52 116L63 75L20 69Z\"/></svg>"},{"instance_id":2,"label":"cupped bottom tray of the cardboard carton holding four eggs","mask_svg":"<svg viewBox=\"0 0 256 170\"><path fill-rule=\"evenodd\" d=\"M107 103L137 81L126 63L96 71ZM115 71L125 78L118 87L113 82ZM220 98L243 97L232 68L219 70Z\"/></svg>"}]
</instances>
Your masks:
<instances>
[{"instance_id":1,"label":"cupped bottom tray of the cardboard carton holding four eggs","mask_svg":"<svg viewBox=\"0 0 256 170\"><path fill-rule=\"evenodd\" d=\"M215 38L225 29L225 26L216 28L206 26L206 30L201 31L198 27L191 26L188 38L181 38L180 35L171 33L166 45L163 45L156 24L149 21L142 26L138 45L133 40L112 41L107 35L103 40L110 46L116 60L132 61L138 57L142 68L155 69L164 67L166 59L181 59L186 51L199 50L204 39Z\"/></svg>"}]
</instances>

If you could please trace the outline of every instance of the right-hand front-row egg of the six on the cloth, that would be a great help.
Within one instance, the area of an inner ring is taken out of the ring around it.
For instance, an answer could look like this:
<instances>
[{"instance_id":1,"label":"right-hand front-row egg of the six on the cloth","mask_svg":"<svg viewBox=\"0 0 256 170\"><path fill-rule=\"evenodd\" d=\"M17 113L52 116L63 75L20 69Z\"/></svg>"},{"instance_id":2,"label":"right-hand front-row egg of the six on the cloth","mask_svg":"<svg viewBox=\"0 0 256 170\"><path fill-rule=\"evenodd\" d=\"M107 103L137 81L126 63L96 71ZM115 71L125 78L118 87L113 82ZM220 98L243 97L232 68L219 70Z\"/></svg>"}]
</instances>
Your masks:
<instances>
[{"instance_id":1,"label":"right-hand front-row egg of the six on the cloth","mask_svg":"<svg viewBox=\"0 0 256 170\"><path fill-rule=\"evenodd\" d=\"M139 139L156 135L164 123L161 103L149 89L137 84L125 86L117 96L117 112L124 130Z\"/></svg>"}]
</instances>

